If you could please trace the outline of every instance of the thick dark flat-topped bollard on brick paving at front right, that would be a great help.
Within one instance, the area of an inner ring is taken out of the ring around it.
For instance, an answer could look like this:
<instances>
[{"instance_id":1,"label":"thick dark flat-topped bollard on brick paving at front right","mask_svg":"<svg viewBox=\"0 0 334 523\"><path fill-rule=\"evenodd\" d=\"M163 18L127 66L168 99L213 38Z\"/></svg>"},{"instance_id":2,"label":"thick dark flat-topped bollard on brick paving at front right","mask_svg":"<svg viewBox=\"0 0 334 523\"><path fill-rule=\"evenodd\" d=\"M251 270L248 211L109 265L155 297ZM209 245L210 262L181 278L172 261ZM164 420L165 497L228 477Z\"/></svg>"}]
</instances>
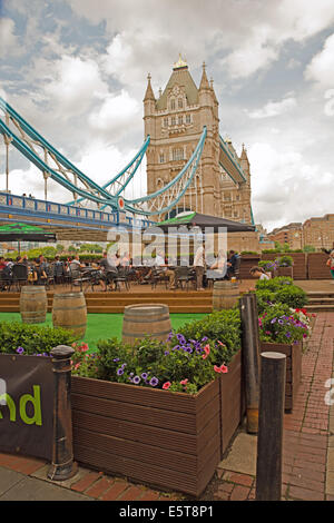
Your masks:
<instances>
[{"instance_id":1,"label":"thick dark flat-topped bollard on brick paving at front right","mask_svg":"<svg viewBox=\"0 0 334 523\"><path fill-rule=\"evenodd\" d=\"M261 355L256 501L281 501L286 356Z\"/></svg>"}]
</instances>

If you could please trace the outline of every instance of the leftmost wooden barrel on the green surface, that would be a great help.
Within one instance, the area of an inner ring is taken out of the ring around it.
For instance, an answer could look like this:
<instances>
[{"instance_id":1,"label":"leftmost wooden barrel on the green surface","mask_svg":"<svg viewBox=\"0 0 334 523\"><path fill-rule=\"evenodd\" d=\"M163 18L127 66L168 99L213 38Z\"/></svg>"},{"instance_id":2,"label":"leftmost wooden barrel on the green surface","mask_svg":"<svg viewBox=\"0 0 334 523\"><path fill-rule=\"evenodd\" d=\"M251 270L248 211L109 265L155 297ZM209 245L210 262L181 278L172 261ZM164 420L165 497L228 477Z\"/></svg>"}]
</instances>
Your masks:
<instances>
[{"instance_id":1,"label":"leftmost wooden barrel on the green surface","mask_svg":"<svg viewBox=\"0 0 334 523\"><path fill-rule=\"evenodd\" d=\"M46 287L27 285L21 288L20 313L22 323L45 323L47 309Z\"/></svg>"}]
</instances>

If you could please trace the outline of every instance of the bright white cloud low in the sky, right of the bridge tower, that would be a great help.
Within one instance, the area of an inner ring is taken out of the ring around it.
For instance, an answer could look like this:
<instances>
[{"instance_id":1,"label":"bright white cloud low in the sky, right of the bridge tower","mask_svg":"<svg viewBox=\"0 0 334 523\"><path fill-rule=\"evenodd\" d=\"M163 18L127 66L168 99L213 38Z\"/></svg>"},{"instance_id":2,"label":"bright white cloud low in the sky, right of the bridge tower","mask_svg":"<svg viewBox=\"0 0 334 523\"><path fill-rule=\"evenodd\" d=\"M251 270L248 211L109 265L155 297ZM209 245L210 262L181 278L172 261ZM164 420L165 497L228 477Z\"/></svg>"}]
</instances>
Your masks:
<instances>
[{"instance_id":1,"label":"bright white cloud low in the sky, right of the bridge tower","mask_svg":"<svg viewBox=\"0 0 334 523\"><path fill-rule=\"evenodd\" d=\"M334 171L308 164L297 150L282 154L267 142L256 142L248 150L252 172L253 206L256 223L268 229L323 216L333 208L328 187Z\"/></svg>"}]
</instances>

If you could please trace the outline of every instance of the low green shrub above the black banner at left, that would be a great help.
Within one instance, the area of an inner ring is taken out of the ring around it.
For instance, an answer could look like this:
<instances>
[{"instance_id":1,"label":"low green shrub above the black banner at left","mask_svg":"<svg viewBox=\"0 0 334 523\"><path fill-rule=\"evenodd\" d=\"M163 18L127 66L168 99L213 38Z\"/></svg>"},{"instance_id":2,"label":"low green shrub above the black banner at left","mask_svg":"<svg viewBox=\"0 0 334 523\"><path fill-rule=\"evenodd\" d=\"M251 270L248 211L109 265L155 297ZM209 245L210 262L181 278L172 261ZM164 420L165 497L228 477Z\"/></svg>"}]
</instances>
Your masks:
<instances>
[{"instance_id":1,"label":"low green shrub above the black banner at left","mask_svg":"<svg viewBox=\"0 0 334 523\"><path fill-rule=\"evenodd\" d=\"M0 352L26 355L49 354L58 345L71 345L73 333L60 327L39 327L20 322L0 322ZM18 351L20 348L20 351ZM23 352L21 351L23 349Z\"/></svg>"}]
</instances>

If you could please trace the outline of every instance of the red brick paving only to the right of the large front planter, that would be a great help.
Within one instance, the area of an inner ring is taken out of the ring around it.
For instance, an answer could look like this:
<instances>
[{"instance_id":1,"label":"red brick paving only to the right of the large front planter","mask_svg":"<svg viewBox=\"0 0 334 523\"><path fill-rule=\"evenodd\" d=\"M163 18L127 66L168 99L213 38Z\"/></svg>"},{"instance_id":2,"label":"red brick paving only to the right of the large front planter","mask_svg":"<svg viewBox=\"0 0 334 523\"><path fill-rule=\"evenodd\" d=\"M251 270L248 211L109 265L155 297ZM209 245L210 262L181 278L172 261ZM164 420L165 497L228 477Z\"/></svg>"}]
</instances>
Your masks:
<instances>
[{"instance_id":1,"label":"red brick paving only to the right of the large front planter","mask_svg":"<svg viewBox=\"0 0 334 523\"><path fill-rule=\"evenodd\" d=\"M293 413L284 416L282 499L286 501L334 500L334 406L325 403L330 392L325 383L333 376L333 343L334 313L322 313L303 355ZM215 500L254 500L255 475L219 467L218 476Z\"/></svg>"}]
</instances>

